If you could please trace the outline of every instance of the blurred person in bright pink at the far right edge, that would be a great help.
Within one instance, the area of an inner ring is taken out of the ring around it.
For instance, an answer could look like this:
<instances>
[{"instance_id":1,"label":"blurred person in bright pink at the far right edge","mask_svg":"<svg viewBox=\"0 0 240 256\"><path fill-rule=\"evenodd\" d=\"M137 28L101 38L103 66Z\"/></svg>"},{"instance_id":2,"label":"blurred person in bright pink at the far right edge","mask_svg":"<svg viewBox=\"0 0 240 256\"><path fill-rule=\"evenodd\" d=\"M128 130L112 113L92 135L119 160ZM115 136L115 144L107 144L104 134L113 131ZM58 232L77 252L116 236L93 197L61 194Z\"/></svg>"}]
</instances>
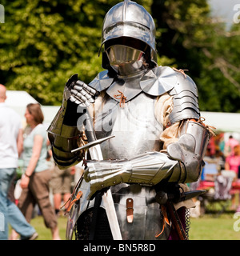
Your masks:
<instances>
[{"instance_id":1,"label":"blurred person in bright pink at the far right edge","mask_svg":"<svg viewBox=\"0 0 240 256\"><path fill-rule=\"evenodd\" d=\"M229 155L226 157L225 162L225 170L234 170L236 173L236 178L238 180L239 177L239 166L240 166L240 145L234 146L233 155ZM239 190L232 190L233 198L232 198L232 206L231 208L240 212L240 194ZM236 198L238 197L238 206L236 207Z\"/></svg>"}]
</instances>

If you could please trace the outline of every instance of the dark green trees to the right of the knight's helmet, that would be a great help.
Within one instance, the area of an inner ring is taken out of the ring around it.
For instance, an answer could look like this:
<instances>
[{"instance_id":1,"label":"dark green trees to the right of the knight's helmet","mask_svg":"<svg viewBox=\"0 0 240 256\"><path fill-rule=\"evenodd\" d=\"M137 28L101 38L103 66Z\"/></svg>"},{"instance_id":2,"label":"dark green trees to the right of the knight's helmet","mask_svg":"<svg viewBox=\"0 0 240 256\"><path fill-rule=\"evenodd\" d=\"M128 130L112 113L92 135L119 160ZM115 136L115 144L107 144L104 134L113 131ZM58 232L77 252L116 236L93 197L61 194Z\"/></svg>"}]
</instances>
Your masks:
<instances>
[{"instance_id":1,"label":"dark green trees to the right of the knight's helmet","mask_svg":"<svg viewBox=\"0 0 240 256\"><path fill-rule=\"evenodd\" d=\"M158 54L189 70L201 110L239 112L239 26L227 32L206 0L154 0L151 10Z\"/></svg>"}]
</instances>

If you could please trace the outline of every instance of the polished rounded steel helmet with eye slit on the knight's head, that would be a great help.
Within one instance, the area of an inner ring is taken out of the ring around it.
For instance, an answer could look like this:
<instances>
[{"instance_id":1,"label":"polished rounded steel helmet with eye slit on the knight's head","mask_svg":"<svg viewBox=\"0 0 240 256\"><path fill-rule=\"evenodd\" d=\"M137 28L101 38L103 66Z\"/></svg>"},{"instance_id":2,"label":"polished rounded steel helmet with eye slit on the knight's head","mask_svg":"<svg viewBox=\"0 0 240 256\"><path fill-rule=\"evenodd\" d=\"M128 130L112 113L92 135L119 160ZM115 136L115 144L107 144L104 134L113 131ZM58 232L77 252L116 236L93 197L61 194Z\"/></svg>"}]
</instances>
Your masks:
<instances>
[{"instance_id":1,"label":"polished rounded steel helmet with eye slit on the knight's head","mask_svg":"<svg viewBox=\"0 0 240 256\"><path fill-rule=\"evenodd\" d=\"M130 0L119 2L107 12L104 18L100 50L103 45L110 42L118 44L121 38L140 40L150 47L150 62L153 62L154 66L156 66L155 30L154 19L143 6ZM134 40L130 42L132 45L129 46L134 48ZM102 56L102 67L106 68L106 64L108 64L108 60Z\"/></svg>"}]
</instances>

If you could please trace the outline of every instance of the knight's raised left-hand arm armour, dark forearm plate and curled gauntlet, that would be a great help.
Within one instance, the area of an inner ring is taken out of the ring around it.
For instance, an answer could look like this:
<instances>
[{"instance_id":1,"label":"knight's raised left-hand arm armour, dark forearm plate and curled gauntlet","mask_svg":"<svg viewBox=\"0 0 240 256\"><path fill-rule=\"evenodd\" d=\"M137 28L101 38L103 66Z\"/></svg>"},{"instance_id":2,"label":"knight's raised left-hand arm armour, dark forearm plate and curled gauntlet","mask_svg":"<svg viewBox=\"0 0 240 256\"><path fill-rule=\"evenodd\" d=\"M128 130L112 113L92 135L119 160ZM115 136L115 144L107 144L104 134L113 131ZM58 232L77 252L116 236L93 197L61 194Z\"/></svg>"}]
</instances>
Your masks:
<instances>
[{"instance_id":1,"label":"knight's raised left-hand arm armour, dark forearm plate and curled gauntlet","mask_svg":"<svg viewBox=\"0 0 240 256\"><path fill-rule=\"evenodd\" d=\"M83 158L84 152L71 150L82 146L84 134L82 126L78 127L78 118L84 108L94 102L97 91L78 80L74 74L67 82L63 92L62 106L48 128L54 161L60 169L74 166Z\"/></svg>"}]
</instances>

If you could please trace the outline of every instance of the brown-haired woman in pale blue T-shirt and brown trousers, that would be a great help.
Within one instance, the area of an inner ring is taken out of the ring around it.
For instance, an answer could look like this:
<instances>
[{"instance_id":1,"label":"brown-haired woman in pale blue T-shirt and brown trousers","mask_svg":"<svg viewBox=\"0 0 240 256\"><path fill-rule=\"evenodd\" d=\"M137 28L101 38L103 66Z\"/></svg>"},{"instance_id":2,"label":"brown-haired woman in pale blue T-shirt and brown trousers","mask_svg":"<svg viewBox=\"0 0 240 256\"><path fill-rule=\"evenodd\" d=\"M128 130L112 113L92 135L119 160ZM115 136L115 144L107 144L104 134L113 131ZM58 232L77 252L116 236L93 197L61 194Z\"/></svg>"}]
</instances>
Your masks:
<instances>
[{"instance_id":1,"label":"brown-haired woman in pale blue T-shirt and brown trousers","mask_svg":"<svg viewBox=\"0 0 240 256\"><path fill-rule=\"evenodd\" d=\"M25 173L22 174L20 183L22 194L18 200L18 207L30 222L34 206L38 203L45 225L51 230L53 240L59 240L58 221L54 207L50 203L51 171L46 161L47 137L46 129L42 125L44 116L40 105L28 104L25 118L30 132L26 134L23 141L22 159Z\"/></svg>"}]
</instances>

